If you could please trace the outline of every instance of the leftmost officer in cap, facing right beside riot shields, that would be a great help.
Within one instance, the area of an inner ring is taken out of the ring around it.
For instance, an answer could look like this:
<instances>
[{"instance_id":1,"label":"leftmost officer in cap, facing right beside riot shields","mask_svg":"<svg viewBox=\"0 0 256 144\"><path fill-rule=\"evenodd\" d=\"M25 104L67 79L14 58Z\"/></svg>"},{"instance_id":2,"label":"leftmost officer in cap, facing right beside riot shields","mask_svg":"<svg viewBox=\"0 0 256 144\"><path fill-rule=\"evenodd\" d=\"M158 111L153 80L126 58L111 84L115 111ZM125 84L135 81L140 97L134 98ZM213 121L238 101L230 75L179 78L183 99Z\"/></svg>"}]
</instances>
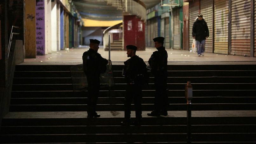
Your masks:
<instances>
[{"instance_id":1,"label":"leftmost officer in cap, facing right beside riot shields","mask_svg":"<svg viewBox=\"0 0 256 144\"><path fill-rule=\"evenodd\" d=\"M100 117L96 113L96 104L100 91L100 73L106 72L108 60L97 52L100 41L90 39L90 49L83 53L83 67L88 83L87 117Z\"/></svg>"}]
</instances>

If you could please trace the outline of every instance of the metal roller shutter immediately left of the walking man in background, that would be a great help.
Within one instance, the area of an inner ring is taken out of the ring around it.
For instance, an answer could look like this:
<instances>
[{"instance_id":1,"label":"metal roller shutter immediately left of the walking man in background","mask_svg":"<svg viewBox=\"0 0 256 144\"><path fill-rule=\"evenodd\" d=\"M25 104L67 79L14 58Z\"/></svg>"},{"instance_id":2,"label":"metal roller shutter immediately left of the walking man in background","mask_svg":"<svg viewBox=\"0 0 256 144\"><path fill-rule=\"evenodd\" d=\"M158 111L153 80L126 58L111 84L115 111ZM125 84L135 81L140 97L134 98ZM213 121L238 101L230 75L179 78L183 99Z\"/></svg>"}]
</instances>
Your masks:
<instances>
[{"instance_id":1,"label":"metal roller shutter immediately left of the walking man in background","mask_svg":"<svg viewBox=\"0 0 256 144\"><path fill-rule=\"evenodd\" d=\"M192 28L195 22L195 18L198 16L198 14L199 14L199 5L197 5L196 3L189 3L189 47L190 49L193 42Z\"/></svg>"}]
</instances>

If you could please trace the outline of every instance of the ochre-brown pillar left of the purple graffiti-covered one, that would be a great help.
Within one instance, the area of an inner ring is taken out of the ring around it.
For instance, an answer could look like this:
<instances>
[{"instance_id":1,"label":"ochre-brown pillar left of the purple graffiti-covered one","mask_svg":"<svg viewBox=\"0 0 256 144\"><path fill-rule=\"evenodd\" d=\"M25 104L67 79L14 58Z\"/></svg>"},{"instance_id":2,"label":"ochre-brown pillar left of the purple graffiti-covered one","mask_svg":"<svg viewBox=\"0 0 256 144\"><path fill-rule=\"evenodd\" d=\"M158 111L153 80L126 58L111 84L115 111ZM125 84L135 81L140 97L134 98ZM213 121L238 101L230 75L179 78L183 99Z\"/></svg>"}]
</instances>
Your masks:
<instances>
[{"instance_id":1,"label":"ochre-brown pillar left of the purple graffiti-covered one","mask_svg":"<svg viewBox=\"0 0 256 144\"><path fill-rule=\"evenodd\" d=\"M24 0L25 3L25 57L36 58L36 1Z\"/></svg>"}]
</instances>

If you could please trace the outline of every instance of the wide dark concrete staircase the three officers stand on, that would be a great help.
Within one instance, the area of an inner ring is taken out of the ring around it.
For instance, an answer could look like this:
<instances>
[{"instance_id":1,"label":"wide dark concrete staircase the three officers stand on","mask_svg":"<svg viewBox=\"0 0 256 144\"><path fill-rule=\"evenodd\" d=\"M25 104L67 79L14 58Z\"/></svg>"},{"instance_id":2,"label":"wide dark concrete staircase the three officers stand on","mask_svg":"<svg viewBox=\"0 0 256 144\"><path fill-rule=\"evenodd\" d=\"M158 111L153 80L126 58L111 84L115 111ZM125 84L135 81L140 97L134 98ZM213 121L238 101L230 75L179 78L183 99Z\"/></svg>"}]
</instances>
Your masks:
<instances>
[{"instance_id":1,"label":"wide dark concrete staircase the three officers stand on","mask_svg":"<svg viewBox=\"0 0 256 144\"><path fill-rule=\"evenodd\" d=\"M150 84L143 88L141 127L120 126L125 95L122 65L113 65L112 97L107 90L100 91L101 117L96 119L86 118L87 92L72 91L70 66L16 66L0 143L186 143L187 81L193 86L193 143L256 142L256 65L169 65L167 117L146 116L154 107L150 73Z\"/></svg>"}]
</instances>

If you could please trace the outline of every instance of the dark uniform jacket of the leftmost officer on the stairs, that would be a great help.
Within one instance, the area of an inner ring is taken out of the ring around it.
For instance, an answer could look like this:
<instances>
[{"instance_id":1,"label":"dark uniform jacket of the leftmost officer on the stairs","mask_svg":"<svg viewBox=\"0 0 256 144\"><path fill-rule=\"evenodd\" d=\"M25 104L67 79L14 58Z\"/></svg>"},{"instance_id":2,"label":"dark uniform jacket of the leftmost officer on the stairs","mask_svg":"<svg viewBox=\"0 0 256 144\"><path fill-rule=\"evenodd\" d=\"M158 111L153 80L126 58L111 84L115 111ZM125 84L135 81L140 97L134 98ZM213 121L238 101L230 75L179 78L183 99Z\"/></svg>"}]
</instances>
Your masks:
<instances>
[{"instance_id":1,"label":"dark uniform jacket of the leftmost officer on the stairs","mask_svg":"<svg viewBox=\"0 0 256 144\"><path fill-rule=\"evenodd\" d=\"M83 67L86 75L100 76L100 73L106 72L107 63L108 60L102 58L101 55L93 49L89 49L83 53Z\"/></svg>"}]
</instances>

